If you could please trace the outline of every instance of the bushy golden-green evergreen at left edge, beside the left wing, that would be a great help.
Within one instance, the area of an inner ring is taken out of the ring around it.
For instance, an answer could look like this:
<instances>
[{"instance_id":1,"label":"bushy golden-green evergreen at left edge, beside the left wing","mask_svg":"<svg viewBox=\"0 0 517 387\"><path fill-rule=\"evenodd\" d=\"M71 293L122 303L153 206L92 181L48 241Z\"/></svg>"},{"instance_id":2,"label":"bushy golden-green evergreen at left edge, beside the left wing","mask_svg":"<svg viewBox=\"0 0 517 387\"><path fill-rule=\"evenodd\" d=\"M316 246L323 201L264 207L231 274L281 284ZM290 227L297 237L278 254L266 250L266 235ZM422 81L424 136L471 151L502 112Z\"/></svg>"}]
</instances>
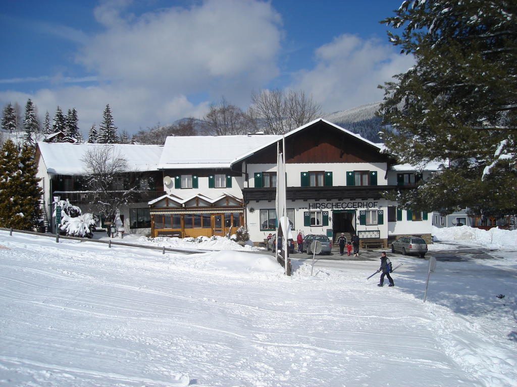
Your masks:
<instances>
[{"instance_id":1,"label":"bushy golden-green evergreen at left edge, beside the left wing","mask_svg":"<svg viewBox=\"0 0 517 387\"><path fill-rule=\"evenodd\" d=\"M0 149L0 227L32 230L38 223L41 188L34 148L8 139Z\"/></svg>"}]
</instances>

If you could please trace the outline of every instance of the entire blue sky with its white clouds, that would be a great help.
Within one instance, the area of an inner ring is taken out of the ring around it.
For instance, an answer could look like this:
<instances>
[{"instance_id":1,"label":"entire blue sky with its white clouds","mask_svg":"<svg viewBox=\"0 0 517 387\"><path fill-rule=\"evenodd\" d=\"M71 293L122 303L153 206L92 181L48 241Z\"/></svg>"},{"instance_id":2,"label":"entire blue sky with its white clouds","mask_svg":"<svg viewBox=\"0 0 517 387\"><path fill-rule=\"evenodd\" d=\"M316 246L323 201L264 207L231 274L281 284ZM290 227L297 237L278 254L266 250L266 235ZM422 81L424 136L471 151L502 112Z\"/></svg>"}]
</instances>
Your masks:
<instances>
[{"instance_id":1,"label":"entire blue sky with its white clouds","mask_svg":"<svg viewBox=\"0 0 517 387\"><path fill-rule=\"evenodd\" d=\"M378 23L401 2L3 0L0 104L75 107L85 133L107 103L135 133L201 118L222 96L246 109L266 88L344 110L381 100L376 86L412 66Z\"/></svg>"}]
</instances>

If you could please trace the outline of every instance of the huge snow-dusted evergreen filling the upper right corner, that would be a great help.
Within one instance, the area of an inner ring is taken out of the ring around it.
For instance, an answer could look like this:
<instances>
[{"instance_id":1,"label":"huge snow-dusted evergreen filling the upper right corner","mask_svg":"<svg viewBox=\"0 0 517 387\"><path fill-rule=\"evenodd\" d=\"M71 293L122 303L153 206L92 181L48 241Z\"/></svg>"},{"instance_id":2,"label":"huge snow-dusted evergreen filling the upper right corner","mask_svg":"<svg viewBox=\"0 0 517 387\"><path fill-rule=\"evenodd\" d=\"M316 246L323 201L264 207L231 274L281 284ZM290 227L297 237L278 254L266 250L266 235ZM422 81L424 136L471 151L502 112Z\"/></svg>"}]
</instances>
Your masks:
<instances>
[{"instance_id":1,"label":"huge snow-dusted evergreen filling the upper right corner","mask_svg":"<svg viewBox=\"0 0 517 387\"><path fill-rule=\"evenodd\" d=\"M386 83L379 113L401 163L443 173L401 191L402 206L501 216L517 208L517 2L404 1L382 21L416 65ZM400 33L398 33L400 31Z\"/></svg>"}]
</instances>

